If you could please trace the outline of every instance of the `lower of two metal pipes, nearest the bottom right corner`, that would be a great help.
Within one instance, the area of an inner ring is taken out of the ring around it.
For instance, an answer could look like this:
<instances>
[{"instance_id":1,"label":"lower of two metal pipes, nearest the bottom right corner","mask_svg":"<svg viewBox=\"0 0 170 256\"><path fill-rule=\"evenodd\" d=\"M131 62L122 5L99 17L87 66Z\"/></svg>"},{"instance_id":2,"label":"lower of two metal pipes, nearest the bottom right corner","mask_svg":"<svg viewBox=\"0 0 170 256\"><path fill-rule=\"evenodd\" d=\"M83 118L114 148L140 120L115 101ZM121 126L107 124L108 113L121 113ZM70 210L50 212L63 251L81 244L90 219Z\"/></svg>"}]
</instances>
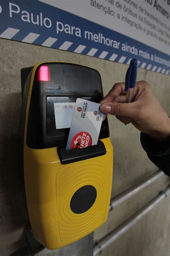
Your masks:
<instances>
[{"instance_id":1,"label":"lower of two metal pipes, nearest the bottom right corner","mask_svg":"<svg viewBox=\"0 0 170 256\"><path fill-rule=\"evenodd\" d=\"M137 223L143 216L145 216L149 211L154 208L157 203L164 199L167 194L170 193L170 186L168 186L164 191L162 191L157 197L152 199L146 206L144 206L140 211L130 217L127 221L121 224L118 228L113 230L110 234L105 236L99 241L99 243L94 247L93 256L98 255L103 252L103 250L117 240L122 234L124 234L129 228Z\"/></svg>"}]
</instances>

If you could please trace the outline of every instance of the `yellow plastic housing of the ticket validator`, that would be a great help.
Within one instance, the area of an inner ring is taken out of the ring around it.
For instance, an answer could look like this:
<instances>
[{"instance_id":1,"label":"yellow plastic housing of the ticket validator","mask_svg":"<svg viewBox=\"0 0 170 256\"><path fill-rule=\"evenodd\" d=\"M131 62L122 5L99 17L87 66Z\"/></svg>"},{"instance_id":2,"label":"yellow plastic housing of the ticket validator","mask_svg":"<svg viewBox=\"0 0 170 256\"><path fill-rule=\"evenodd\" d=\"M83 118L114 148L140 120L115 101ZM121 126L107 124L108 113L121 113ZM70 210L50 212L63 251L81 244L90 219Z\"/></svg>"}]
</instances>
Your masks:
<instances>
[{"instance_id":1,"label":"yellow plastic housing of the ticket validator","mask_svg":"<svg viewBox=\"0 0 170 256\"><path fill-rule=\"evenodd\" d=\"M41 63L39 63L41 64ZM30 224L34 237L48 249L57 249L93 232L108 216L113 173L113 146L102 139L107 153L63 165L57 148L32 149L26 144L33 68L24 130L24 181ZM71 211L74 193L85 185L95 187L93 206L82 214Z\"/></svg>"}]
</instances>

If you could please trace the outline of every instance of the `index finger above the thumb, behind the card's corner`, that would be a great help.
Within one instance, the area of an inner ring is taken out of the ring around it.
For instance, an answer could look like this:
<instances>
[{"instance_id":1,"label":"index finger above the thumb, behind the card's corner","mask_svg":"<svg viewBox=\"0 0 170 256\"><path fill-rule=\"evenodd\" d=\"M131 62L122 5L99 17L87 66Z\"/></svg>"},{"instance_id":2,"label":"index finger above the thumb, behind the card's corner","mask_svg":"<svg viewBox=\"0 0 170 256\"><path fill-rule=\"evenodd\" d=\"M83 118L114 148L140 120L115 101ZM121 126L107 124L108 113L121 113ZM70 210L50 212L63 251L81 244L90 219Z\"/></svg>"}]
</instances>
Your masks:
<instances>
[{"instance_id":1,"label":"index finger above the thumb, behind the card's corner","mask_svg":"<svg viewBox=\"0 0 170 256\"><path fill-rule=\"evenodd\" d=\"M125 89L125 83L116 83L113 85L112 89L109 91L109 93L100 101L101 104L105 102L112 102L114 99L116 99L120 94L126 95Z\"/></svg>"}]
</instances>

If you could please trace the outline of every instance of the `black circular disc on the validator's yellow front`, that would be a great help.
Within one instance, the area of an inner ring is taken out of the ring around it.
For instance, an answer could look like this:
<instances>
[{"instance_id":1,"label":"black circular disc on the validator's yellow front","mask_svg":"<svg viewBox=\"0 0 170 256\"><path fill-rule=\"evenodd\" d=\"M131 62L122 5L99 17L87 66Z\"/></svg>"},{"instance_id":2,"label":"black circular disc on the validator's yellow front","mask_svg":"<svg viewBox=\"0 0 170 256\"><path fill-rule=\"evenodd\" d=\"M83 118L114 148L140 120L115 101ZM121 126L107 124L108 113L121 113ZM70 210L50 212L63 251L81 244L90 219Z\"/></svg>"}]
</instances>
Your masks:
<instances>
[{"instance_id":1,"label":"black circular disc on the validator's yellow front","mask_svg":"<svg viewBox=\"0 0 170 256\"><path fill-rule=\"evenodd\" d=\"M76 214L88 211L94 204L96 196L96 189L91 185L79 188L71 198L71 211Z\"/></svg>"}]
</instances>

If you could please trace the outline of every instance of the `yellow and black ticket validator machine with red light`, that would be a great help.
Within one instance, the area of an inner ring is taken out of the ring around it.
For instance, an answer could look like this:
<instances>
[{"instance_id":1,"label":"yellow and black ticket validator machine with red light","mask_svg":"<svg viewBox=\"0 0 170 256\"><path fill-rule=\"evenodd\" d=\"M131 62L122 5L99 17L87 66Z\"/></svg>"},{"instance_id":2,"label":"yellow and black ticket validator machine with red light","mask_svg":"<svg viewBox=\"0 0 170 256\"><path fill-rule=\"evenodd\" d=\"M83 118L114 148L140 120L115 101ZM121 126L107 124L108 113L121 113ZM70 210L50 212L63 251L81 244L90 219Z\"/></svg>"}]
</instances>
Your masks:
<instances>
[{"instance_id":1,"label":"yellow and black ticket validator machine with red light","mask_svg":"<svg viewBox=\"0 0 170 256\"><path fill-rule=\"evenodd\" d=\"M77 98L100 102L98 71L39 63L25 82L21 132L27 207L34 237L51 250L93 232L108 215L113 147L107 118L97 145L65 149Z\"/></svg>"}]
</instances>

